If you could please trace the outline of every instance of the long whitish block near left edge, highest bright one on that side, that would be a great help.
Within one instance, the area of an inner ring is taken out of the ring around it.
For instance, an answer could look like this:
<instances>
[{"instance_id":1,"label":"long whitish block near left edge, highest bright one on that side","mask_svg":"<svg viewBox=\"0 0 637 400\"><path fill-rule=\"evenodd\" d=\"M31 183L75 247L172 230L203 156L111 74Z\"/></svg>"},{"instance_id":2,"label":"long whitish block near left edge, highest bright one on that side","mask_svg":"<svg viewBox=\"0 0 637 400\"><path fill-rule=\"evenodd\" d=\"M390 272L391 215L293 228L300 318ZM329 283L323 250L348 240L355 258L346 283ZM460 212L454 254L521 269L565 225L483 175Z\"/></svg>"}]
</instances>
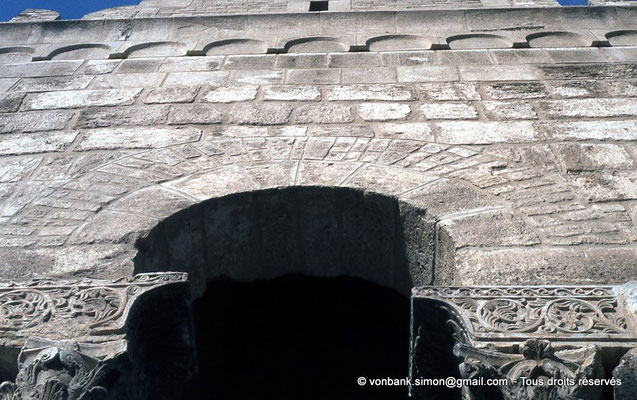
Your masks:
<instances>
[{"instance_id":1,"label":"long whitish block near left edge, highest bright one on that side","mask_svg":"<svg viewBox=\"0 0 637 400\"><path fill-rule=\"evenodd\" d=\"M64 92L31 93L24 101L25 110L51 110L132 104L142 89L69 90Z\"/></svg>"}]
</instances>

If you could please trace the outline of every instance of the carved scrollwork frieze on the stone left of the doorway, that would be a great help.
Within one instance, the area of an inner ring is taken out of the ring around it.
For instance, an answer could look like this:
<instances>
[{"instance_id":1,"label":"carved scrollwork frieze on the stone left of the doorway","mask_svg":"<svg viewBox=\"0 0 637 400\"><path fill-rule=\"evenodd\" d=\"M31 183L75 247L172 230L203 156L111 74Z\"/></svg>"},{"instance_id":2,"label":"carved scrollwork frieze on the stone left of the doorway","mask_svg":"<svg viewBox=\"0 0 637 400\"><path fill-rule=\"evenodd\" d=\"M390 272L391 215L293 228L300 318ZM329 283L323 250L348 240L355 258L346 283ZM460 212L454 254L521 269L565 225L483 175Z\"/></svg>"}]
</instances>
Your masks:
<instances>
[{"instance_id":1,"label":"carved scrollwork frieze on the stone left of the doorway","mask_svg":"<svg viewBox=\"0 0 637 400\"><path fill-rule=\"evenodd\" d=\"M78 340L123 334L136 298L154 288L186 280L185 273L153 273L116 281L0 282L0 334L22 343L36 335Z\"/></svg>"}]
</instances>

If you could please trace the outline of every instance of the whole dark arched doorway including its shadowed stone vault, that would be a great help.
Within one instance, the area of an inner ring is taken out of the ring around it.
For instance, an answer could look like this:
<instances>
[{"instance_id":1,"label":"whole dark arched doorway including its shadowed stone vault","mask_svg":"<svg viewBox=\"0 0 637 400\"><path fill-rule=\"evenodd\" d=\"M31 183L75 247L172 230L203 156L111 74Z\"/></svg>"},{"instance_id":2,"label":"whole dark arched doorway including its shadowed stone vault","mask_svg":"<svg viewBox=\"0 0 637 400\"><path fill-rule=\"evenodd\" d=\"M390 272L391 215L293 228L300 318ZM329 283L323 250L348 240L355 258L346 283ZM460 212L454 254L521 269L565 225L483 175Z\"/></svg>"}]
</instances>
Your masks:
<instances>
[{"instance_id":1,"label":"whole dark arched doorway including its shadowed stone vault","mask_svg":"<svg viewBox=\"0 0 637 400\"><path fill-rule=\"evenodd\" d=\"M189 398L406 398L409 293L433 276L423 210L349 188L211 199L138 241L136 272L188 272L199 377Z\"/></svg>"}]
</instances>

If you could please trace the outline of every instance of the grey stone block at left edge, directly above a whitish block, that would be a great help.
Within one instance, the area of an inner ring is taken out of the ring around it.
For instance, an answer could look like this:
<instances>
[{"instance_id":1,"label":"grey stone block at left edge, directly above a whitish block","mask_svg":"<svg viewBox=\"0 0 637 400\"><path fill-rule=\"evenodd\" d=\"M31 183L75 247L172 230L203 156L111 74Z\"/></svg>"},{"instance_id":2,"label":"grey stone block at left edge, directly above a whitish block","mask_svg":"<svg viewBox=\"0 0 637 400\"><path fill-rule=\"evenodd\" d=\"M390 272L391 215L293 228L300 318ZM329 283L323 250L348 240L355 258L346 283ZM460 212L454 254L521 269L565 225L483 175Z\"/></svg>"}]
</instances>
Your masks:
<instances>
[{"instance_id":1,"label":"grey stone block at left edge, directly above a whitish block","mask_svg":"<svg viewBox=\"0 0 637 400\"><path fill-rule=\"evenodd\" d=\"M68 111L34 111L0 114L0 133L38 132L64 129L73 118Z\"/></svg>"}]
</instances>

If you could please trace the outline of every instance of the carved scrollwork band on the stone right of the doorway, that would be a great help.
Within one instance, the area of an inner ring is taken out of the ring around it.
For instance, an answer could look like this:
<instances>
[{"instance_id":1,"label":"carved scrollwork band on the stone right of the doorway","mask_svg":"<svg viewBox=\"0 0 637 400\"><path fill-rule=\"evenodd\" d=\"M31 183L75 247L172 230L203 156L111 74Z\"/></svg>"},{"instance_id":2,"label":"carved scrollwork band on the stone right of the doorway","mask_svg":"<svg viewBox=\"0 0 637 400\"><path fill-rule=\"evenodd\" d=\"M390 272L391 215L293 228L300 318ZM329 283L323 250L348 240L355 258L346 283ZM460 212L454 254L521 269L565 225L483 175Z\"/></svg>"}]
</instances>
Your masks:
<instances>
[{"instance_id":1,"label":"carved scrollwork band on the stone right of the doorway","mask_svg":"<svg viewBox=\"0 0 637 400\"><path fill-rule=\"evenodd\" d=\"M636 341L611 286L421 287L414 298L453 308L476 341Z\"/></svg>"}]
</instances>

